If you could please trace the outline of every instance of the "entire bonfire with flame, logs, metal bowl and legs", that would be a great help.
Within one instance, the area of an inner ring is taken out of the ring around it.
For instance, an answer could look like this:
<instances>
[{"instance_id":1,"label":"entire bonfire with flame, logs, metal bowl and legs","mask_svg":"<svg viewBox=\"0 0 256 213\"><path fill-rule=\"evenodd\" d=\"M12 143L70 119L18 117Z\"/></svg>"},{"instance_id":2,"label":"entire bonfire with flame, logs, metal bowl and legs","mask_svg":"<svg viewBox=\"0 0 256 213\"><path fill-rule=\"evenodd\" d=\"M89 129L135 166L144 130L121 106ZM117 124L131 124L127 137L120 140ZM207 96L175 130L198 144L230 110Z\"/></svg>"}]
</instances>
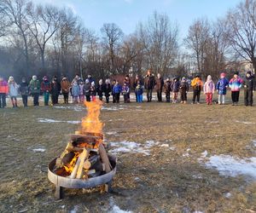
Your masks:
<instances>
[{"instance_id":1,"label":"entire bonfire with flame, logs, metal bowl and legs","mask_svg":"<svg viewBox=\"0 0 256 213\"><path fill-rule=\"evenodd\" d=\"M82 118L79 131L70 135L70 141L61 156L49 164L49 181L56 185L56 197L61 199L62 187L110 187L115 174L116 158L108 155L103 143L100 111L102 101L84 102L87 115Z\"/></svg>"}]
</instances>

